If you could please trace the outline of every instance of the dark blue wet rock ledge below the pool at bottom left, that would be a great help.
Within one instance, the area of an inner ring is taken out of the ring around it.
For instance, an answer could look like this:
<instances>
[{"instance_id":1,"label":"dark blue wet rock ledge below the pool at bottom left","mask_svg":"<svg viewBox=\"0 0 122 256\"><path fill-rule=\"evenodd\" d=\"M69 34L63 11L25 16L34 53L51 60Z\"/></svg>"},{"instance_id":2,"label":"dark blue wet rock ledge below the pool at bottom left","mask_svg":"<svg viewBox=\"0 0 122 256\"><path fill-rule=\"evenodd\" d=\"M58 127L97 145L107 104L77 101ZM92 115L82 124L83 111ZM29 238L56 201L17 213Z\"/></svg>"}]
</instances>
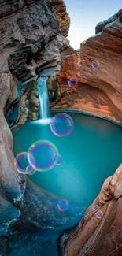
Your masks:
<instances>
[{"instance_id":1,"label":"dark blue wet rock ledge below the pool at bottom left","mask_svg":"<svg viewBox=\"0 0 122 256\"><path fill-rule=\"evenodd\" d=\"M9 227L9 236L0 237L0 254L57 256L58 236L81 217L81 209L73 209L69 213L59 211L58 200L55 195L27 180L20 219Z\"/></svg>"}]
</instances>

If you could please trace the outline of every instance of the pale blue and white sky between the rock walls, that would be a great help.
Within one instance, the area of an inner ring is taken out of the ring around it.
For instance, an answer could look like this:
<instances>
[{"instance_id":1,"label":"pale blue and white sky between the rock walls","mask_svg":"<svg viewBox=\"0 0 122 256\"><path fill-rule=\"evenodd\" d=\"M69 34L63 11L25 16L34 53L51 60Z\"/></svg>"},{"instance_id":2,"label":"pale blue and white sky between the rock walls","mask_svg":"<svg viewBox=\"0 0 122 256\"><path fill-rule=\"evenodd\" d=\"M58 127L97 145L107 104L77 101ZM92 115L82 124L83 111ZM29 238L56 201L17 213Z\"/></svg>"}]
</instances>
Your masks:
<instances>
[{"instance_id":1,"label":"pale blue and white sky between the rock walls","mask_svg":"<svg viewBox=\"0 0 122 256\"><path fill-rule=\"evenodd\" d=\"M68 39L75 49L95 34L98 22L122 9L122 0L65 0L65 4L71 18Z\"/></svg>"}]
</instances>

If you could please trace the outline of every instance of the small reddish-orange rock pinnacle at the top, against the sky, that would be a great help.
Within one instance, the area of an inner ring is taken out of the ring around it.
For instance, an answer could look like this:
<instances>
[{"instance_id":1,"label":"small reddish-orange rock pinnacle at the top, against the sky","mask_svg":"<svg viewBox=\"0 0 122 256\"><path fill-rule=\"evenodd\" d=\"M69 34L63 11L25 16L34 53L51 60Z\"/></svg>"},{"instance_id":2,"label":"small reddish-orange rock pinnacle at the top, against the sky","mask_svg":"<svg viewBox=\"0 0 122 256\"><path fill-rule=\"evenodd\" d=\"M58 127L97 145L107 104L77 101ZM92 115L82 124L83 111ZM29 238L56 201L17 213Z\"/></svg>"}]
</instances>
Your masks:
<instances>
[{"instance_id":1,"label":"small reddish-orange rock pinnacle at the top, against the sky","mask_svg":"<svg viewBox=\"0 0 122 256\"><path fill-rule=\"evenodd\" d=\"M65 2L63 0L50 0L51 6L54 7L61 35L68 36L70 18L66 11Z\"/></svg>"}]
</instances>

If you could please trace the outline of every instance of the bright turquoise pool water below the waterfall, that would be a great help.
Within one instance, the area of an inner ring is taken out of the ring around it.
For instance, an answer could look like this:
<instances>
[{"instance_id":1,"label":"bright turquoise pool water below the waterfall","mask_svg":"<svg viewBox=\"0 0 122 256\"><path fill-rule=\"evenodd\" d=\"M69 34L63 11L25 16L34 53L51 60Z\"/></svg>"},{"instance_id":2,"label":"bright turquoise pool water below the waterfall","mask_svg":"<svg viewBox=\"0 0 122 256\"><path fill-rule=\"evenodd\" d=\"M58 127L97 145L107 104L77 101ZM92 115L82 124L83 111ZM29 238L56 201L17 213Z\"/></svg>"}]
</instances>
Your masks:
<instances>
[{"instance_id":1,"label":"bright turquoise pool water below the waterfall","mask_svg":"<svg viewBox=\"0 0 122 256\"><path fill-rule=\"evenodd\" d=\"M27 151L39 139L57 146L64 161L46 173L36 172L29 178L47 191L87 207L98 195L106 177L113 175L122 162L122 128L109 121L71 113L72 134L59 138L50 124L26 122L13 132L14 154Z\"/></svg>"}]
</instances>

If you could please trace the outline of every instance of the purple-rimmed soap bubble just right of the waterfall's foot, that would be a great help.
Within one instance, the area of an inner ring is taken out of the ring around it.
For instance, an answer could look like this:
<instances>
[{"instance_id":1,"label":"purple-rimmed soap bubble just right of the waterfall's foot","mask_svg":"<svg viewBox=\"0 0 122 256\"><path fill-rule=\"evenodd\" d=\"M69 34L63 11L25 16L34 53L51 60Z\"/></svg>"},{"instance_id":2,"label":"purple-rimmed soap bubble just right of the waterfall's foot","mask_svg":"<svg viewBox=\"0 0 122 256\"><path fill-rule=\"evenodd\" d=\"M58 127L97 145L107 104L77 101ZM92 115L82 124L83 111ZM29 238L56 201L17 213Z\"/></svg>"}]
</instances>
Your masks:
<instances>
[{"instance_id":1,"label":"purple-rimmed soap bubble just right of the waterfall's foot","mask_svg":"<svg viewBox=\"0 0 122 256\"><path fill-rule=\"evenodd\" d=\"M74 123L66 113L57 113L50 121L50 129L57 137L65 137L72 132Z\"/></svg>"}]
</instances>

